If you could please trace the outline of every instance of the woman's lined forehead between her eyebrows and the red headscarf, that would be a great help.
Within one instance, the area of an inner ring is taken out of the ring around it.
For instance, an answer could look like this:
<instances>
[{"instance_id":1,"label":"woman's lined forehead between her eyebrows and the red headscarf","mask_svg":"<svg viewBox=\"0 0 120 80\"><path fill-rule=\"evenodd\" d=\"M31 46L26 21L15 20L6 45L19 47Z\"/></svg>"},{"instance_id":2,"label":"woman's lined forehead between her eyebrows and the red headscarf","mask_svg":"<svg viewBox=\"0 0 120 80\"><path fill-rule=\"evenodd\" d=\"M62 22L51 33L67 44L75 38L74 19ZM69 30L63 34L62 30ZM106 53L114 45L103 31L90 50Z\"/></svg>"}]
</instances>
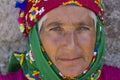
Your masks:
<instances>
[{"instance_id":1,"label":"woman's lined forehead between her eyebrows and the red headscarf","mask_svg":"<svg viewBox=\"0 0 120 80\"><path fill-rule=\"evenodd\" d=\"M47 13L46 24L49 23L93 23L90 10L77 6L60 6Z\"/></svg>"}]
</instances>

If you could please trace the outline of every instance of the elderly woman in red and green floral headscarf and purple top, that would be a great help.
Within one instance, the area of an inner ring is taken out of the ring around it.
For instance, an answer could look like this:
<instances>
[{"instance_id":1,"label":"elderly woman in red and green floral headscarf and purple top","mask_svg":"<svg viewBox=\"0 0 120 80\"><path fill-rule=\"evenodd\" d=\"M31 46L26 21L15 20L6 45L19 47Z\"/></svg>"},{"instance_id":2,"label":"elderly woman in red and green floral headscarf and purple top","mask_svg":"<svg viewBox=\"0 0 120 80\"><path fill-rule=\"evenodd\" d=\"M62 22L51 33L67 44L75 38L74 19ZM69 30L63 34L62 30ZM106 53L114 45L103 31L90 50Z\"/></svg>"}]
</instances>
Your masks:
<instances>
[{"instance_id":1,"label":"elderly woman in red and green floral headscarf and purple top","mask_svg":"<svg viewBox=\"0 0 120 80\"><path fill-rule=\"evenodd\" d=\"M103 65L101 0L17 2L25 52L14 52L0 80L120 80L120 69Z\"/></svg>"}]
</instances>

